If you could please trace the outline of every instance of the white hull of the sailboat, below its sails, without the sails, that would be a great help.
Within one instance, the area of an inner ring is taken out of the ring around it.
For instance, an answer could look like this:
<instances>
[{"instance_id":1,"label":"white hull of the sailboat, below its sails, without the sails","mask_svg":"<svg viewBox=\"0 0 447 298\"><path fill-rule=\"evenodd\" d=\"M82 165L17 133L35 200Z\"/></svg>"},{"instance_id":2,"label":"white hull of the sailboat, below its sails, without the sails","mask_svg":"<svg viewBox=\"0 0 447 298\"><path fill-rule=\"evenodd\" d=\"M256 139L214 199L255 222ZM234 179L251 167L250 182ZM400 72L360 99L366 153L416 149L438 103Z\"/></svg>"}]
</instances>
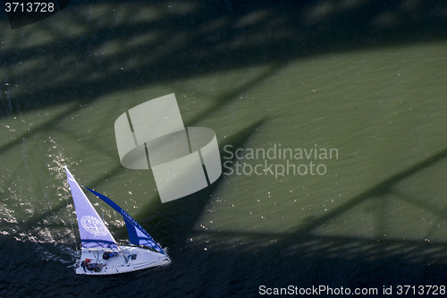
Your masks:
<instances>
[{"instance_id":1,"label":"white hull of the sailboat, below its sails, without the sails","mask_svg":"<svg viewBox=\"0 0 447 298\"><path fill-rule=\"evenodd\" d=\"M162 254L157 251L150 251L148 249L135 246L120 246L122 253L118 252L116 256L108 260L103 259L106 249L87 249L82 248L80 260L75 264L76 274L85 275L111 275L125 272L137 271L146 268L154 268L165 266L171 263L167 254ZM115 252L115 251L114 251ZM124 256L128 259L124 259ZM97 263L100 271L89 270L80 266L83 260L89 259L91 263Z\"/></svg>"}]
</instances>

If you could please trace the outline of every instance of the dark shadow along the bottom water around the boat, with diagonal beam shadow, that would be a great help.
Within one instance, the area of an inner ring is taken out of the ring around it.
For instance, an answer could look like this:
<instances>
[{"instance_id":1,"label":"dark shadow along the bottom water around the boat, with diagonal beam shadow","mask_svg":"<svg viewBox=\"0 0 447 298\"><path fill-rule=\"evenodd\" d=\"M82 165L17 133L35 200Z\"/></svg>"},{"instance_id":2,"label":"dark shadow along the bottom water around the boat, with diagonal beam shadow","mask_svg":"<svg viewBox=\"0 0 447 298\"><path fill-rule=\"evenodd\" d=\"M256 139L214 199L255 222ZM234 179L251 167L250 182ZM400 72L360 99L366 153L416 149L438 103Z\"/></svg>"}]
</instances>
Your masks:
<instances>
[{"instance_id":1,"label":"dark shadow along the bottom water around the boat, with diagonal beam shadow","mask_svg":"<svg viewBox=\"0 0 447 298\"><path fill-rule=\"evenodd\" d=\"M265 121L266 119L261 119L240 130L221 146L243 146ZM377 296L380 296L384 286L392 286L393 294L387 296L398 297L401 296L397 294L399 285L444 285L447 281L444 273L447 269L447 243L322 235L314 231L363 201L373 198L385 200L402 180L440 163L445 158L447 149L390 176L384 182L329 211L327 215L298 226L296 231L291 233L199 229L196 226L198 217L214 195L215 188L224 183L224 178L181 200L166 204L156 200L155 203L144 207L155 212L156 217L146 221L143 219L143 222L149 226L152 220L161 222L156 234L168 242L173 263L167 268L135 272L120 277L92 279L76 276L71 268L65 268L67 264L46 255L48 253L50 256L61 258L61 248L55 244L23 243L13 240L12 237L2 236L0 241L3 245L0 252L5 260L8 260L3 263L3 268L0 268L3 285L6 289L15 285L13 278L16 277L8 276L8 270L21 272L21 278L26 280L24 285L27 282L34 287L39 285L40 287L33 289L34 294L46 293L46 285L51 280L51 283L70 285L57 290L57 294L68 296L86 290L89 294L100 296L120 296L139 294L140 291L150 289L151 294L155 295L247 297L257 296L260 285L325 285L332 288L349 287L352 290L356 287L370 288L379 291L375 294ZM406 196L404 199L408 200ZM421 205L421 208L426 206ZM428 212L444 217L433 209L428 209ZM172 226L163 223L167 217L171 219ZM71 259L70 254L63 255L64 261L69 262ZM0 288L0 294L2 290ZM30 294L30 287L21 286L15 291L17 294ZM321 295L332 296L325 293Z\"/></svg>"}]
</instances>

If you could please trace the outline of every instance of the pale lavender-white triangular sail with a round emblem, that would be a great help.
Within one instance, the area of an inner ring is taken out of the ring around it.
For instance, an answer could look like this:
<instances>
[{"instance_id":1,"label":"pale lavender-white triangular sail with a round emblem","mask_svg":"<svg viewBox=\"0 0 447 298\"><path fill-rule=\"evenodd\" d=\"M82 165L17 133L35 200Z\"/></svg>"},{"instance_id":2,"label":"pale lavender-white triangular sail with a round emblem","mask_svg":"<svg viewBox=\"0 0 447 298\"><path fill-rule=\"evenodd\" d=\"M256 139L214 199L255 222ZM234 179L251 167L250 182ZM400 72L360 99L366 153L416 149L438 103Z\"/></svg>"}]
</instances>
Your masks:
<instances>
[{"instance_id":1,"label":"pale lavender-white triangular sail with a round emblem","mask_svg":"<svg viewBox=\"0 0 447 298\"><path fill-rule=\"evenodd\" d=\"M110 234L101 217L97 214L97 210L90 203L85 193L82 192L80 185L66 166L65 171L67 172L67 180L72 191L74 209L76 209L76 216L78 217L82 247L108 248L118 251L119 248L114 240L114 236Z\"/></svg>"}]
</instances>

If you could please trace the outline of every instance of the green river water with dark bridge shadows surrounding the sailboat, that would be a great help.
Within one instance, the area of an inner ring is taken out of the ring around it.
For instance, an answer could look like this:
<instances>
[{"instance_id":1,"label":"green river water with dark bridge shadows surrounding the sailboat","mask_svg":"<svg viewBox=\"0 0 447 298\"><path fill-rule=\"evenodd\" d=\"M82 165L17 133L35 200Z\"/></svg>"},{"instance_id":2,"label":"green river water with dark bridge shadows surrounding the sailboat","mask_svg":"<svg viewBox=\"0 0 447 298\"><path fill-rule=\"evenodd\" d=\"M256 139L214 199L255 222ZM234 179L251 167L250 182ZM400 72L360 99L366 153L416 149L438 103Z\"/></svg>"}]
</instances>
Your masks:
<instances>
[{"instance_id":1,"label":"green river water with dark bridge shadows surrounding the sailboat","mask_svg":"<svg viewBox=\"0 0 447 298\"><path fill-rule=\"evenodd\" d=\"M442 1L72 1L0 21L0 297L445 290ZM223 175L162 204L150 170L121 165L114 121L170 93L185 126L215 131ZM80 239L65 165L173 263L67 268Z\"/></svg>"}]
</instances>

